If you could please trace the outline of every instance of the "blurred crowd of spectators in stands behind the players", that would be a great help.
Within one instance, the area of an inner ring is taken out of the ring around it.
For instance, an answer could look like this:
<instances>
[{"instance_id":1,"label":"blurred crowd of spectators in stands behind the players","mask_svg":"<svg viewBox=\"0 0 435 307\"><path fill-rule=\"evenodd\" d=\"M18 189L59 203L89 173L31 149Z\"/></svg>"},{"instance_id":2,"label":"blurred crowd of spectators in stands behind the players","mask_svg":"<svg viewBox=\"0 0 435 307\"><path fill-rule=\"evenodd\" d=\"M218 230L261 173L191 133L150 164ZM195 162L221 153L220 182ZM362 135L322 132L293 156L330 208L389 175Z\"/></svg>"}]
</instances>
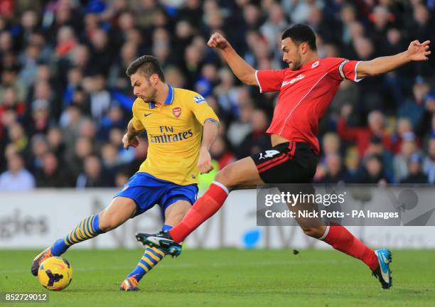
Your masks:
<instances>
[{"instance_id":1,"label":"blurred crowd of spectators in stands behind the players","mask_svg":"<svg viewBox=\"0 0 435 307\"><path fill-rule=\"evenodd\" d=\"M200 92L222 121L223 168L269 147L276 93L235 78L206 43L220 31L254 68L280 69L292 23L324 57L370 60L435 43L434 0L0 0L0 190L122 186L146 158L122 147L144 54L166 81ZM355 84L320 125L316 182L435 183L435 58Z\"/></svg>"}]
</instances>

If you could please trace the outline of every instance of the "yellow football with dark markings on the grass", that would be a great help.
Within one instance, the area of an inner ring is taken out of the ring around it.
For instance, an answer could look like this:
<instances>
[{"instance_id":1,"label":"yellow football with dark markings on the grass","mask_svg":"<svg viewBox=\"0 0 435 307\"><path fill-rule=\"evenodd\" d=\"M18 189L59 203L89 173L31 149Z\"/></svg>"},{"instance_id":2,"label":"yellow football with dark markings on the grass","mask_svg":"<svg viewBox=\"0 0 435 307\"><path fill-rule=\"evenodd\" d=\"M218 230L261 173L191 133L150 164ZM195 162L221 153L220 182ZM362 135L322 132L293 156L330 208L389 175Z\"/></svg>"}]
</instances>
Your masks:
<instances>
[{"instance_id":1,"label":"yellow football with dark markings on the grass","mask_svg":"<svg viewBox=\"0 0 435 307\"><path fill-rule=\"evenodd\" d=\"M38 269L38 281L48 290L65 289L73 280L73 268L62 257L46 259Z\"/></svg>"}]
</instances>

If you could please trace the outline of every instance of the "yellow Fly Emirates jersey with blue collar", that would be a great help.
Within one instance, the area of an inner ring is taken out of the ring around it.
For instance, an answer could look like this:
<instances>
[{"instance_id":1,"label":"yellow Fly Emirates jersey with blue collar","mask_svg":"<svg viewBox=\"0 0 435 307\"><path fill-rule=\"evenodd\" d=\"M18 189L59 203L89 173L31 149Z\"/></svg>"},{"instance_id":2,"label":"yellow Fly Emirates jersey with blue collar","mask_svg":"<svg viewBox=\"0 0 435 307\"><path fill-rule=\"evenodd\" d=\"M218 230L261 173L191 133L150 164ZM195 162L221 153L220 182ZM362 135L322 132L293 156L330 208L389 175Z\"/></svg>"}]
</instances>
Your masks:
<instances>
[{"instance_id":1,"label":"yellow Fly Emirates jersey with blue collar","mask_svg":"<svg viewBox=\"0 0 435 307\"><path fill-rule=\"evenodd\" d=\"M204 97L171 87L161 107L137 98L133 104L134 129L146 129L148 156L139 172L179 185L198 183L198 156L206 119L218 121Z\"/></svg>"}]
</instances>

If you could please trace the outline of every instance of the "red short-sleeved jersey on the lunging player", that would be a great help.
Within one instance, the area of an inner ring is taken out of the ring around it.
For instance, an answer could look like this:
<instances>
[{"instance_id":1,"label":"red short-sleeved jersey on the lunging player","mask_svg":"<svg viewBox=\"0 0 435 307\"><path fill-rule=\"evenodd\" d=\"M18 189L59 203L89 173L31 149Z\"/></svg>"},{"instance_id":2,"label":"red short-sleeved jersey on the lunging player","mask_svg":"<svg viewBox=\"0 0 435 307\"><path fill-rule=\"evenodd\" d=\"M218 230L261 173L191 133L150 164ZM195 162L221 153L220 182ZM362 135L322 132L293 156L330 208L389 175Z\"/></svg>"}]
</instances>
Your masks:
<instances>
[{"instance_id":1,"label":"red short-sleeved jersey on the lunging player","mask_svg":"<svg viewBox=\"0 0 435 307\"><path fill-rule=\"evenodd\" d=\"M325 114L340 82L357 79L358 61L324 58L299 70L257 70L260 92L279 91L269 134L291 141L308 142L318 154L318 122Z\"/></svg>"}]
</instances>

